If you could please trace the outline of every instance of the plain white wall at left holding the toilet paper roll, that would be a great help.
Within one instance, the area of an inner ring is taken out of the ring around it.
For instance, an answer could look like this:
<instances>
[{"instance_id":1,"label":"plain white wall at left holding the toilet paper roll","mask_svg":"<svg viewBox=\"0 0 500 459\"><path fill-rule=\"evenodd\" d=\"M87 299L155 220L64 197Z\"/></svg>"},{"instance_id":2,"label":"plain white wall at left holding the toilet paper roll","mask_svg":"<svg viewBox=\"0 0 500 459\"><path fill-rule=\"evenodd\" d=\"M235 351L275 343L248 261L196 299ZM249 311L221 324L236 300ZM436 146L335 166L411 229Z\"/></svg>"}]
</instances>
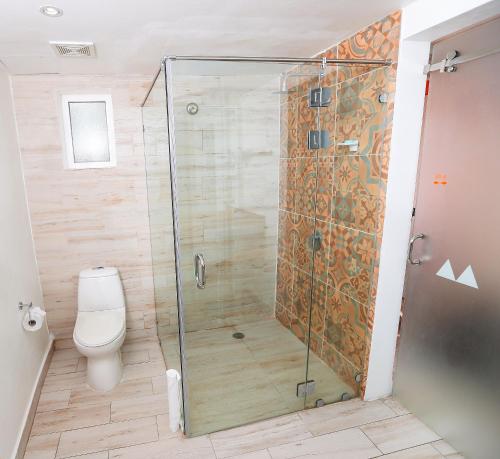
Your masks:
<instances>
[{"instance_id":1,"label":"plain white wall at left holding the toilet paper roll","mask_svg":"<svg viewBox=\"0 0 500 459\"><path fill-rule=\"evenodd\" d=\"M21 327L18 301L41 305L10 78L0 63L0 457L14 457L44 356L44 327Z\"/></svg>"}]
</instances>

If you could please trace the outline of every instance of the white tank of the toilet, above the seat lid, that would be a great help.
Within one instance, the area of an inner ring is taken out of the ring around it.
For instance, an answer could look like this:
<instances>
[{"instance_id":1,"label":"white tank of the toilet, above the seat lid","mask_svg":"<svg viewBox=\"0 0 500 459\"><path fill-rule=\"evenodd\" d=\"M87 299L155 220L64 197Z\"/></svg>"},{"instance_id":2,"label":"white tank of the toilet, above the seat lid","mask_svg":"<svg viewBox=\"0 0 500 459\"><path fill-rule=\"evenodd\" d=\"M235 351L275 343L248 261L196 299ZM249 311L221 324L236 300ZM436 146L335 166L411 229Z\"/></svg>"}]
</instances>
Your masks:
<instances>
[{"instance_id":1,"label":"white tank of the toilet, above the seat lid","mask_svg":"<svg viewBox=\"0 0 500 459\"><path fill-rule=\"evenodd\" d=\"M84 269L78 280L78 310L102 311L125 307L118 269L98 267Z\"/></svg>"}]
</instances>

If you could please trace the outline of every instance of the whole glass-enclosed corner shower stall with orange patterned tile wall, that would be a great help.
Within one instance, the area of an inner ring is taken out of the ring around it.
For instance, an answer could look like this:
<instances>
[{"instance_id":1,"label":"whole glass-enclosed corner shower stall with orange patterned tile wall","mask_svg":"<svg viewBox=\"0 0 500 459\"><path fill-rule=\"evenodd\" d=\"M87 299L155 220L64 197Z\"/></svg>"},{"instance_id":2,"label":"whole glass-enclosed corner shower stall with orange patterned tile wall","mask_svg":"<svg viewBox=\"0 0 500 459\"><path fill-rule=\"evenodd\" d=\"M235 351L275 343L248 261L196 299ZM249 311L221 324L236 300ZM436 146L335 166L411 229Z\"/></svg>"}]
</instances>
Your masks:
<instances>
[{"instance_id":1,"label":"whole glass-enclosed corner shower stall with orange patterned tile wall","mask_svg":"<svg viewBox=\"0 0 500 459\"><path fill-rule=\"evenodd\" d=\"M381 197L349 173L382 162L389 69L163 60L144 144L158 336L187 435L359 395Z\"/></svg>"}]
</instances>

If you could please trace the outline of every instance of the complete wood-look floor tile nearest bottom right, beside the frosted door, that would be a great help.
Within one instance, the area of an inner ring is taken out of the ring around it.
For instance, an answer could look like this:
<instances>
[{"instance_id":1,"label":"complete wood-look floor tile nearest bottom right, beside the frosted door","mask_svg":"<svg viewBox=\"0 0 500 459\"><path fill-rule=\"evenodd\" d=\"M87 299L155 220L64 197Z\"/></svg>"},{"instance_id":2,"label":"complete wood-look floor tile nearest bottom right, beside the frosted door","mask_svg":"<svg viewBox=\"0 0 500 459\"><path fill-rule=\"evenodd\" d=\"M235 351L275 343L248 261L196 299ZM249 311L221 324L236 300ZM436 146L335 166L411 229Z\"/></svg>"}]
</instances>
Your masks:
<instances>
[{"instance_id":1,"label":"complete wood-look floor tile nearest bottom right, beside the frosted door","mask_svg":"<svg viewBox=\"0 0 500 459\"><path fill-rule=\"evenodd\" d=\"M411 414L374 422L361 429L384 454L440 439L439 435Z\"/></svg>"}]
</instances>

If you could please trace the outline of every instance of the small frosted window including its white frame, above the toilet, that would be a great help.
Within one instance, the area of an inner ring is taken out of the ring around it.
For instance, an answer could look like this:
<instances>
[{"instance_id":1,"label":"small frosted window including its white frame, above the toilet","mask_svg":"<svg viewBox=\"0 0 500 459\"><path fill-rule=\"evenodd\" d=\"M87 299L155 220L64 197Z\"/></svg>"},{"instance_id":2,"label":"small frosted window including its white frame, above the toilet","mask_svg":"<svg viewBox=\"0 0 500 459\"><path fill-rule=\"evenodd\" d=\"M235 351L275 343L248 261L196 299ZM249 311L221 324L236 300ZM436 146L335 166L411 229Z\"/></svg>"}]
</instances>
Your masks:
<instances>
[{"instance_id":1,"label":"small frosted window including its white frame, above the toilet","mask_svg":"<svg viewBox=\"0 0 500 459\"><path fill-rule=\"evenodd\" d=\"M66 166L70 169L116 165L111 96L62 97Z\"/></svg>"}]
</instances>

